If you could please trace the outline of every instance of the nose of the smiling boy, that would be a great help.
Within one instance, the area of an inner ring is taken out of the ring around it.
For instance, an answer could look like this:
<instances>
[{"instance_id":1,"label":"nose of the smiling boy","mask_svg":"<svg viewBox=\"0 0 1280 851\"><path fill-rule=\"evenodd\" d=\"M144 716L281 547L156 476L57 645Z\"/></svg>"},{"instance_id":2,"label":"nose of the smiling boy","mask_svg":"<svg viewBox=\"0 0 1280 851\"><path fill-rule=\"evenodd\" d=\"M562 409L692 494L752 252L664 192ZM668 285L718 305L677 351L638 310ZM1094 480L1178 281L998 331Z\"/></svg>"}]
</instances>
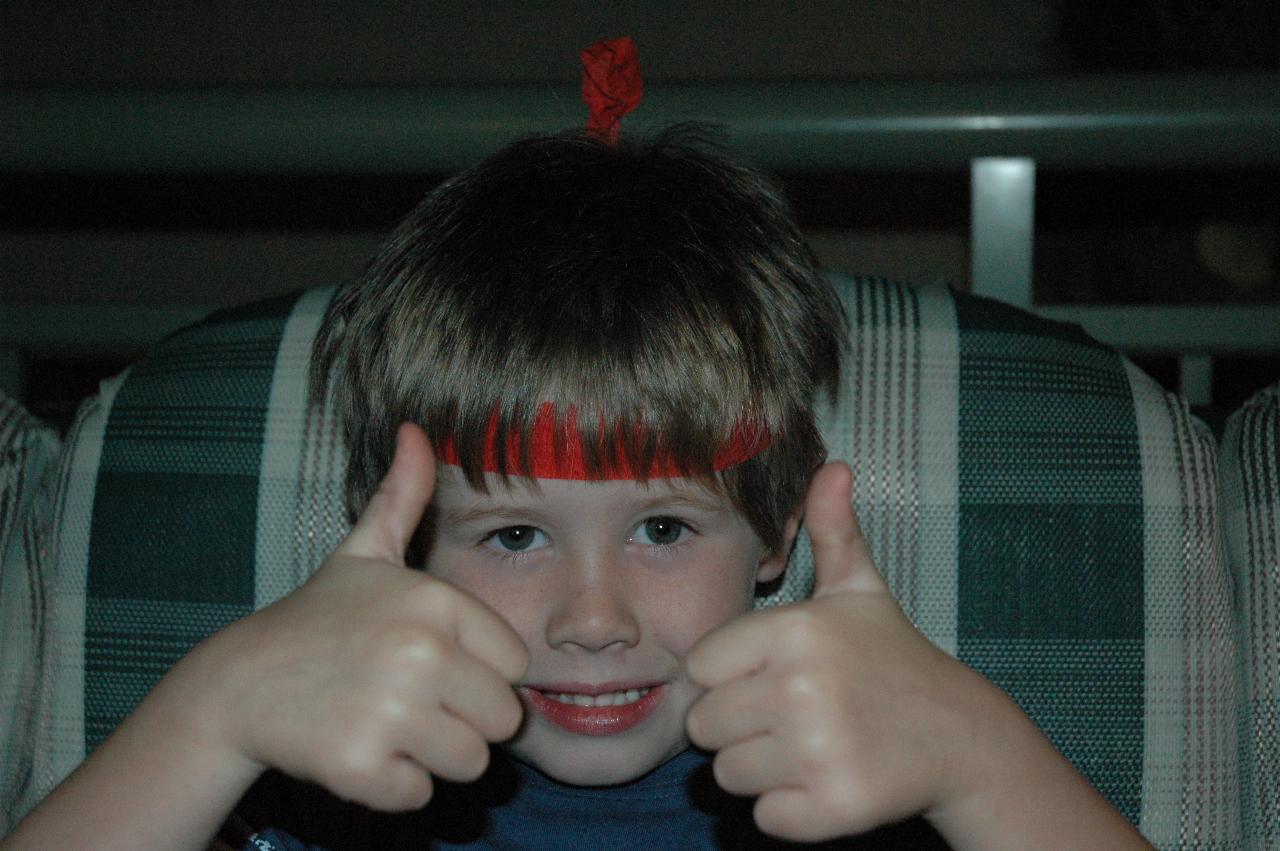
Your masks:
<instances>
[{"instance_id":1,"label":"nose of the smiling boy","mask_svg":"<svg viewBox=\"0 0 1280 851\"><path fill-rule=\"evenodd\" d=\"M561 603L547 622L556 649L623 650L640 640L640 623L617 571L589 571L561 589Z\"/></svg>"}]
</instances>

